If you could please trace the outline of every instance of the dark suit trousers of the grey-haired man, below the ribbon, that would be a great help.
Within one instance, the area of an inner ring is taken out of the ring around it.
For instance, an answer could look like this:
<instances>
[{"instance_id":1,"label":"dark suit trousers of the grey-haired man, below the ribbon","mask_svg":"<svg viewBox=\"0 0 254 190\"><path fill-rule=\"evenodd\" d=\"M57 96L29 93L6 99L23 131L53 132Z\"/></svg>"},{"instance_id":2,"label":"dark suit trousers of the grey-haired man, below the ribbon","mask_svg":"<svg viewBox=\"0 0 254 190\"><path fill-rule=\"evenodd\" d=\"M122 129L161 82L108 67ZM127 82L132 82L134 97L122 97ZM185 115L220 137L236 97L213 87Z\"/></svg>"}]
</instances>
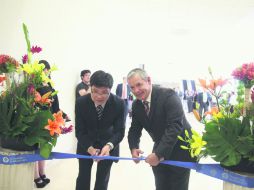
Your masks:
<instances>
[{"instance_id":1,"label":"dark suit trousers of the grey-haired man, below the ribbon","mask_svg":"<svg viewBox=\"0 0 254 190\"><path fill-rule=\"evenodd\" d=\"M188 190L190 170L159 164L152 167L156 190Z\"/></svg>"}]
</instances>

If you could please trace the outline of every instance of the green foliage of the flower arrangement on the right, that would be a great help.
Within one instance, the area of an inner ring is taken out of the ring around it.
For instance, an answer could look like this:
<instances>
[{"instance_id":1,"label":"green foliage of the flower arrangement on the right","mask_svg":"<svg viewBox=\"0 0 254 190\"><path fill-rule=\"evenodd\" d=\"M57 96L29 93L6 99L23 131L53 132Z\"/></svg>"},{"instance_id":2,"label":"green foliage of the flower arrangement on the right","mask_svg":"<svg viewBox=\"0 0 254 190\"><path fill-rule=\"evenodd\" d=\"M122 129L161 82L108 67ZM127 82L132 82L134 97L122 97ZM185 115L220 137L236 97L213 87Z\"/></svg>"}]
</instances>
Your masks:
<instances>
[{"instance_id":1,"label":"green foliage of the flower arrangement on the right","mask_svg":"<svg viewBox=\"0 0 254 190\"><path fill-rule=\"evenodd\" d=\"M236 165L242 157L250 158L254 136L249 118L219 118L205 125L205 152L225 166Z\"/></svg>"}]
</instances>

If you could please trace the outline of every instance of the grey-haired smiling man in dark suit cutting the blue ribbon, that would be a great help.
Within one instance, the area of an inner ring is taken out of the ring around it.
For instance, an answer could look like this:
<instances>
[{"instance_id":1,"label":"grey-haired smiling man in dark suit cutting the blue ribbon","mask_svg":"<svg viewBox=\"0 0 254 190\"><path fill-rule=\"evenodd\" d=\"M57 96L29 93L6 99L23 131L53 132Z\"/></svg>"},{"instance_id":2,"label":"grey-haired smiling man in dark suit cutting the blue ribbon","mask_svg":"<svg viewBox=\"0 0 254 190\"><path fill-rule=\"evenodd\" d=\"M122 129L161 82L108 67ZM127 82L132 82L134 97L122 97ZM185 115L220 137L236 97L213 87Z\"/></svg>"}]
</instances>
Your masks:
<instances>
[{"instance_id":1,"label":"grey-haired smiling man in dark suit cutting the blue ribbon","mask_svg":"<svg viewBox=\"0 0 254 190\"><path fill-rule=\"evenodd\" d=\"M185 118L181 100L172 89L152 86L143 69L133 69L128 74L128 84L136 100L132 104L132 123L128 142L133 158L142 154L139 148L143 128L154 141L153 151L146 158L152 166L156 190L187 190L190 170L160 164L162 160L193 161L188 151L180 148L186 144L185 130L191 126ZM135 161L137 162L137 161Z\"/></svg>"}]
</instances>

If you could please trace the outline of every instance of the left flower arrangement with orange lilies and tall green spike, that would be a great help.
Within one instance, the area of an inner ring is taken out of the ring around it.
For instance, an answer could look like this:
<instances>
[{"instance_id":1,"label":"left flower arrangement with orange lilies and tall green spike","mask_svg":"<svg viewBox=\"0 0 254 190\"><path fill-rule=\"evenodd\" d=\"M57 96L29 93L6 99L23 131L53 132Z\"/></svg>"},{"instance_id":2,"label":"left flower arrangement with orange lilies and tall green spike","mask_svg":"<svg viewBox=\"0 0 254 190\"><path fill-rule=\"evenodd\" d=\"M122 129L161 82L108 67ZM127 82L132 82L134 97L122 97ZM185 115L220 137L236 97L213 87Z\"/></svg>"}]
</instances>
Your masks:
<instances>
[{"instance_id":1,"label":"left flower arrangement with orange lilies and tall green spike","mask_svg":"<svg viewBox=\"0 0 254 190\"><path fill-rule=\"evenodd\" d=\"M44 72L44 65L32 62L32 54L42 49L30 47L28 30L23 24L27 43L27 55L23 64L8 55L0 55L0 138L19 139L28 146L38 145L40 155L49 157L60 134L68 133L72 126L65 127L62 111L51 113L51 97L55 92L40 95L37 89L43 83L52 83ZM52 69L54 70L54 69Z\"/></svg>"}]
</instances>

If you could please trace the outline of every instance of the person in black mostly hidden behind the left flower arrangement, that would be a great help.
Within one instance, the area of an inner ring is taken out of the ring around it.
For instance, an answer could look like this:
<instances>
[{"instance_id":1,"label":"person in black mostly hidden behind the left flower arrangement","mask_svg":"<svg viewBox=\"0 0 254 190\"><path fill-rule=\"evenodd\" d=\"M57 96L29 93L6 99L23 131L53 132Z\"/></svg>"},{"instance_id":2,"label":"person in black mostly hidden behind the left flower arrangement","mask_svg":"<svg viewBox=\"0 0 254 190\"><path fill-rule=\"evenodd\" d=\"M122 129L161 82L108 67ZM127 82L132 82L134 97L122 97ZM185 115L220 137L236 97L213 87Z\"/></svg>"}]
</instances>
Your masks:
<instances>
[{"instance_id":1,"label":"person in black mostly hidden behind the left flower arrangement","mask_svg":"<svg viewBox=\"0 0 254 190\"><path fill-rule=\"evenodd\" d=\"M39 64L44 65L43 71L45 74L50 78L50 64L46 60L40 60ZM43 86L39 89L36 89L41 96L48 92L55 92L55 89L51 86L50 83L45 83ZM58 101L58 96L55 94L53 97L51 97L51 107L50 110L52 113L57 113L60 111L59 108L59 101ZM48 109L47 107L41 107L41 109ZM67 114L63 112L63 118L65 121L70 121L69 117ZM45 187L48 183L50 183L50 179L46 177L45 173L45 160L38 161L35 163L35 171L34 171L34 182L37 188L43 188Z\"/></svg>"}]
</instances>

